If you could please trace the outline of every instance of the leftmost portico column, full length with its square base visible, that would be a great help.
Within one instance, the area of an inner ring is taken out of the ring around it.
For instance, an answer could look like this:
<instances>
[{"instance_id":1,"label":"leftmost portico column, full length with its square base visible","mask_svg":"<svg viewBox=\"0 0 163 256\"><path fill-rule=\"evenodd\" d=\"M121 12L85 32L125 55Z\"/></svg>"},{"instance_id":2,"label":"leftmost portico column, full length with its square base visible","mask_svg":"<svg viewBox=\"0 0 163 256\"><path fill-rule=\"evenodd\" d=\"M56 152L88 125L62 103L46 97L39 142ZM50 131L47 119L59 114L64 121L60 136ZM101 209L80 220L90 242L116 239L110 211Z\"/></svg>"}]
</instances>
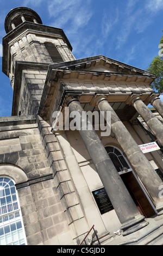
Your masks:
<instances>
[{"instance_id":1,"label":"leftmost portico column, full length with its square base visible","mask_svg":"<svg viewBox=\"0 0 163 256\"><path fill-rule=\"evenodd\" d=\"M122 224L121 229L123 230L123 235L133 233L134 231L145 227L148 222L144 221L144 217L140 215L140 212L137 210L126 186L110 157L106 153L101 140L97 136L97 133L89 120L86 119L86 115L83 114L85 112L80 105L80 102L76 99L69 99L67 101L67 106L69 107L70 112L76 111L79 114L80 127L77 126L77 129L79 130L85 147L103 182L106 193L108 194ZM89 124L89 129L83 126L85 122L87 125Z\"/></svg>"}]
</instances>

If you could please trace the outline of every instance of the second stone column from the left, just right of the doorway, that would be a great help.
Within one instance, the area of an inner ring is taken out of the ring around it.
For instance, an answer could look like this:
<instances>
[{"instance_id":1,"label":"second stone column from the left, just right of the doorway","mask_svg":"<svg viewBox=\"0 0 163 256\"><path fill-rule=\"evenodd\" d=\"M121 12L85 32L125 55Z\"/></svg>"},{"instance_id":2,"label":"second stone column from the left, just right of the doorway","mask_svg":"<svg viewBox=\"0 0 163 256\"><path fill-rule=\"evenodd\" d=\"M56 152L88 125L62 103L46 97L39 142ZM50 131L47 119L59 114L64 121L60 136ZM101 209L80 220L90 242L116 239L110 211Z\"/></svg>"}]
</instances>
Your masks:
<instances>
[{"instance_id":1,"label":"second stone column from the left, just right of the doorway","mask_svg":"<svg viewBox=\"0 0 163 256\"><path fill-rule=\"evenodd\" d=\"M159 198L159 187L161 185L163 186L162 180L159 178L158 174L156 174L154 168L142 153L120 118L118 118L106 98L104 96L97 96L95 103L100 111L111 112L111 124L109 124L111 125L111 130L114 132L114 135L126 154L127 159L130 161L131 166L133 166L135 173L139 176L151 196L156 210L158 212L160 211L160 214L162 214L163 202L162 199Z\"/></svg>"}]
</instances>

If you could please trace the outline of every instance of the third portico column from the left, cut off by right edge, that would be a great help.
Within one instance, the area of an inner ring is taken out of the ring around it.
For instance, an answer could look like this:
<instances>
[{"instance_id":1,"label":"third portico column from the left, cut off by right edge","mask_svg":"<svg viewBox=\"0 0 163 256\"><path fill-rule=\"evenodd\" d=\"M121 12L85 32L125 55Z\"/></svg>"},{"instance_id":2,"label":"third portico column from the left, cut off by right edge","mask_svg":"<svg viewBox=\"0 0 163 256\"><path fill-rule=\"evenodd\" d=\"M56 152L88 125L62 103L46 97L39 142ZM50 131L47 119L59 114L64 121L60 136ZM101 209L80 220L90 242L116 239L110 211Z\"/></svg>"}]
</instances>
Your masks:
<instances>
[{"instance_id":1,"label":"third portico column from the left, cut off by right edge","mask_svg":"<svg viewBox=\"0 0 163 256\"><path fill-rule=\"evenodd\" d=\"M136 111L141 115L143 120L145 120L149 129L153 132L158 142L163 146L163 125L160 120L155 117L151 110L143 103L139 95L133 95L130 100L131 105L134 106Z\"/></svg>"}]
</instances>

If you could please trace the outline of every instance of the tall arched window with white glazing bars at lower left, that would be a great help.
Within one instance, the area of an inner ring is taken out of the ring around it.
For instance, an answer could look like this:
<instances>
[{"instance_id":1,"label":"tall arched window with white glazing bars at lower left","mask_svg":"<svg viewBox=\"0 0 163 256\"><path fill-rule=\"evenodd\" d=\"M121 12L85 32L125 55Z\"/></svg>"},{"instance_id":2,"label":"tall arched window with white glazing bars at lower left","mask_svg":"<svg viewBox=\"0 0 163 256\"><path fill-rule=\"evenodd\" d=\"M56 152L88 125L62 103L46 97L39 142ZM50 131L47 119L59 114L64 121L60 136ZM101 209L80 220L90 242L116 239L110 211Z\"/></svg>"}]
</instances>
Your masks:
<instances>
[{"instance_id":1,"label":"tall arched window with white glazing bars at lower left","mask_svg":"<svg viewBox=\"0 0 163 256\"><path fill-rule=\"evenodd\" d=\"M0 245L26 245L14 180L0 176Z\"/></svg>"}]
</instances>

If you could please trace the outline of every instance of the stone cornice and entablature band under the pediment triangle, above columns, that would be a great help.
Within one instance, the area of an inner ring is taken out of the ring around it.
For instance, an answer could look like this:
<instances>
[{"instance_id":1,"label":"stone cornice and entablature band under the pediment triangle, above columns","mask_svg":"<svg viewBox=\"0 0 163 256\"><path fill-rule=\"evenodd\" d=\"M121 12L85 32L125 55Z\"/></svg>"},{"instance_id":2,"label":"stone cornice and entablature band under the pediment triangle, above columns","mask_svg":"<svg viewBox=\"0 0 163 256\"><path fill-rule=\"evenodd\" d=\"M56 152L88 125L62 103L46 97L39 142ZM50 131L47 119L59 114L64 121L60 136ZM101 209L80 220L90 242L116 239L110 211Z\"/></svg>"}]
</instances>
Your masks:
<instances>
[{"instance_id":1,"label":"stone cornice and entablature band under the pediment triangle, above columns","mask_svg":"<svg viewBox=\"0 0 163 256\"><path fill-rule=\"evenodd\" d=\"M61 65L65 65L67 63L59 63L58 66ZM66 66L66 65L65 65ZM42 93L42 98L41 98L41 102L40 102L40 107L39 107L39 112L38 114L41 115L42 117L45 117L46 119L49 118L49 114L50 111L52 109L52 105L54 102L54 99L57 97L57 93L59 92L60 98L58 99L59 101L59 105L63 105L64 104L64 100L66 99L66 95L79 95L80 99L81 96L85 97L89 97L89 99L92 99L93 95L96 94L104 94L104 95L118 95L121 96L123 98L124 101L127 100L127 97L131 94L134 93L141 93L146 97L148 97L152 91L150 90L150 92L140 92L139 89L137 89L137 92L135 92L134 90L130 90L130 92L123 92L120 91L116 91L114 92L112 90L112 92L108 89L108 90L103 90L103 89L98 89L95 88L94 90L89 90L89 89L83 89L81 87L81 89L71 89L68 88L66 82L71 83L74 81L77 81L78 83L84 83L84 82L92 82L92 83L109 83L109 82L117 82L117 83L121 83L124 82L125 83L130 83L132 84L132 80L133 83L143 83L143 84L147 84L148 86L150 85L150 83L153 81L154 77L152 75L150 76L140 76L139 74L120 74L120 73L116 73L116 72L98 72L98 71L91 71L91 70L70 70L68 69L68 66L64 69L58 68L58 69L54 69L55 67L57 67L57 65L49 65L49 69L47 72L47 78L46 78L46 82L45 82L45 87L43 89L43 93ZM85 95L85 96L84 96ZM123 101L122 100L122 101Z\"/></svg>"}]
</instances>

